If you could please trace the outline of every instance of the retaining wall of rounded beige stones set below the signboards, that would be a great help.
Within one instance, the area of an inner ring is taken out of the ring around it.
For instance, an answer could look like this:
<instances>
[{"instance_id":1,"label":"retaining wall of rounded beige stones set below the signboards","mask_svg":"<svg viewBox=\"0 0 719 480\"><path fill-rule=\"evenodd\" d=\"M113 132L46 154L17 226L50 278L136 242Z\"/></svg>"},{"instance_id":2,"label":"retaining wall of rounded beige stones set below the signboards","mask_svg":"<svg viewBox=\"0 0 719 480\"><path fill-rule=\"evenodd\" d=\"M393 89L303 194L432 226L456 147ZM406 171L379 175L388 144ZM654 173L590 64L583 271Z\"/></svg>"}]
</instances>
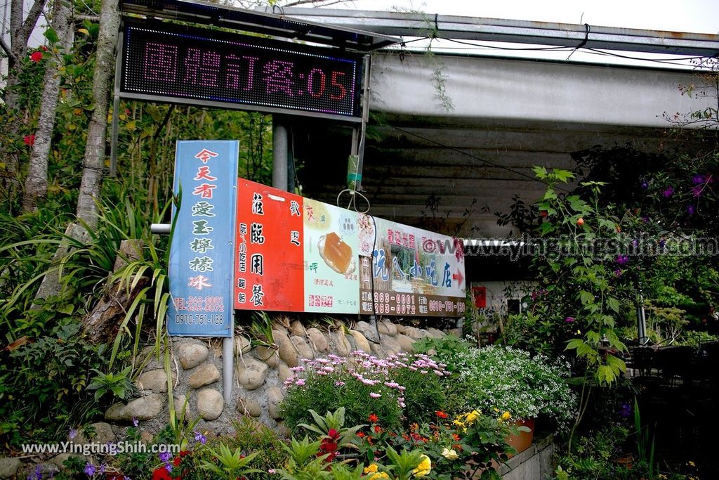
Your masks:
<instances>
[{"instance_id":1,"label":"retaining wall of rounded beige stones set below the signboards","mask_svg":"<svg viewBox=\"0 0 719 480\"><path fill-rule=\"evenodd\" d=\"M411 353L413 343L420 338L444 335L434 328L418 329L389 320L378 322L376 329L367 322L348 327L336 321L322 330L293 321L289 327L273 327L274 345L270 346L252 346L249 338L239 335L234 341L234 387L229 405L224 404L222 394L221 340L173 338L170 364L175 410L179 415L186 406L186 417L201 419L197 430L217 435L231 433L232 420L239 415L254 417L288 435L280 413L285 395L283 381L293 375L290 368L301 365L303 358L329 353L347 356L354 350L384 358L400 351ZM145 353L151 350L147 347ZM168 422L168 381L162 363L148 363L137 386L138 398L114 404L105 413L105 420L117 435L122 435L133 418L146 435L156 433Z\"/></svg>"}]
</instances>

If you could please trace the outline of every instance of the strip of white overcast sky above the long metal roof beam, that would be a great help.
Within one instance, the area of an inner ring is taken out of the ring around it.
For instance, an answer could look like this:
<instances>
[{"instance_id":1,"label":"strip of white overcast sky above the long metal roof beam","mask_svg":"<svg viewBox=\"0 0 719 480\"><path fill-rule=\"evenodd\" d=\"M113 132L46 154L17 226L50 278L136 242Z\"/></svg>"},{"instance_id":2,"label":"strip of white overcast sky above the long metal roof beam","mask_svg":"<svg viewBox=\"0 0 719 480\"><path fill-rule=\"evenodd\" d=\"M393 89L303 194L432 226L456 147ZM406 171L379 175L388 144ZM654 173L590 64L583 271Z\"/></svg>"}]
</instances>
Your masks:
<instances>
[{"instance_id":1,"label":"strip of white overcast sky above the long metal roof beam","mask_svg":"<svg viewBox=\"0 0 719 480\"><path fill-rule=\"evenodd\" d=\"M719 34L719 0L354 0L349 8Z\"/></svg>"}]
</instances>

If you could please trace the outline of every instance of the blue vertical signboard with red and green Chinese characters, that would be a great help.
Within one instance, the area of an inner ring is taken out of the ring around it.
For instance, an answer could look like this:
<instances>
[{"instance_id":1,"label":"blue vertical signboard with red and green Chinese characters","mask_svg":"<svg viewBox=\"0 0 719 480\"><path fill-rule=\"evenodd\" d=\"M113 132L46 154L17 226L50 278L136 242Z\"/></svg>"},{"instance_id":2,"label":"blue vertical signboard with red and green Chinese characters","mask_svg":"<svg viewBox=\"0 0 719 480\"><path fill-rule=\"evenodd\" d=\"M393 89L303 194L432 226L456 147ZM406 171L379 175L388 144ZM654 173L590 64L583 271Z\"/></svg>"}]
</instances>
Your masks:
<instances>
[{"instance_id":1,"label":"blue vertical signboard with red and green Chinese characters","mask_svg":"<svg viewBox=\"0 0 719 480\"><path fill-rule=\"evenodd\" d=\"M232 336L236 140L180 140L175 152L175 230L170 244L168 332Z\"/></svg>"}]
</instances>

